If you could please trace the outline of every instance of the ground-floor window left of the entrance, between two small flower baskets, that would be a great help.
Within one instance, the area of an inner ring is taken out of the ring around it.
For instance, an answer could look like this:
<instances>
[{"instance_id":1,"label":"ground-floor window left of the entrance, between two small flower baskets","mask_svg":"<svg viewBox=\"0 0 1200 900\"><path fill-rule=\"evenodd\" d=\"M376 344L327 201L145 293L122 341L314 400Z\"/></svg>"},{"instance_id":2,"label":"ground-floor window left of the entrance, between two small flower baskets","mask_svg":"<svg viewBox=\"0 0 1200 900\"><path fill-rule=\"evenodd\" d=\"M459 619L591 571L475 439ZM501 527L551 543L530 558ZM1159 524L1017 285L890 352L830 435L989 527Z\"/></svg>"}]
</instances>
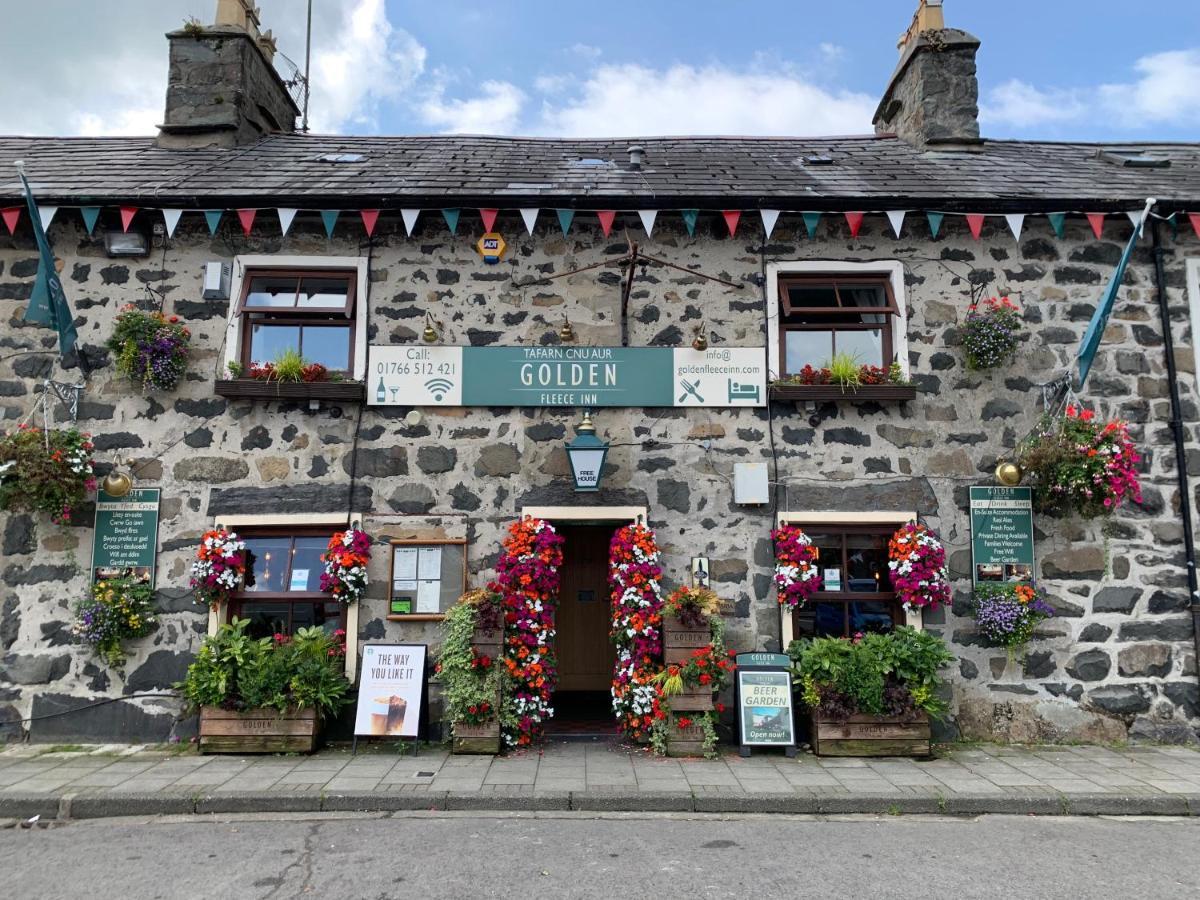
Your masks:
<instances>
[{"instance_id":1,"label":"ground-floor window left of the entrance, between two small flower baskets","mask_svg":"<svg viewBox=\"0 0 1200 900\"><path fill-rule=\"evenodd\" d=\"M344 607L320 589L320 554L334 530L239 528L247 572L245 588L230 602L230 616L250 619L247 632L253 637L294 635L313 625L344 629Z\"/></svg>"}]
</instances>

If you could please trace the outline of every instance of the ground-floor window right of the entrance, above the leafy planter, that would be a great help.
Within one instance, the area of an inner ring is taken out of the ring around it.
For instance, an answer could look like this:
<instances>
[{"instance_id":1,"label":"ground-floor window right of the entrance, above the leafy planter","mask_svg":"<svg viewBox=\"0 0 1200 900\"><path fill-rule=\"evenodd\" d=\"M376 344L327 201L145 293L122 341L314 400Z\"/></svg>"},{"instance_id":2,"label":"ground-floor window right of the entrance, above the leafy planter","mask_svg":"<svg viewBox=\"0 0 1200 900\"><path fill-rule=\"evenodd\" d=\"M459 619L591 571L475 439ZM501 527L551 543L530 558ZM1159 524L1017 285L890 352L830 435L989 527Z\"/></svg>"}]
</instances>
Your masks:
<instances>
[{"instance_id":1,"label":"ground-floor window right of the entrance, above the leafy planter","mask_svg":"<svg viewBox=\"0 0 1200 900\"><path fill-rule=\"evenodd\" d=\"M793 637L848 637L904 622L888 578L895 524L803 526L817 548L822 589L792 613Z\"/></svg>"}]
</instances>

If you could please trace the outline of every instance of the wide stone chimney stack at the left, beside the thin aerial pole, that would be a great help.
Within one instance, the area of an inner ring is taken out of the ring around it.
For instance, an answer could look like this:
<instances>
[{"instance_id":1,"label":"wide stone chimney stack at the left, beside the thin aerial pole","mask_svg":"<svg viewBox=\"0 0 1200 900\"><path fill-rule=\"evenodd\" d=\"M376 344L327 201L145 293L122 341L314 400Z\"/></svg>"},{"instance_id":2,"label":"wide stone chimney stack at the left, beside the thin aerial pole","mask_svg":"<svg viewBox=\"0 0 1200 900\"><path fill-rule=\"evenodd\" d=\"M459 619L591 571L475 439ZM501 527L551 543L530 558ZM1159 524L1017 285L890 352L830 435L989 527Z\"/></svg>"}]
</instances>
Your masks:
<instances>
[{"instance_id":1,"label":"wide stone chimney stack at the left, beside the thin aerial pole","mask_svg":"<svg viewBox=\"0 0 1200 900\"><path fill-rule=\"evenodd\" d=\"M293 132L300 110L275 71L275 40L252 0L217 0L212 25L167 35L170 68L158 146L241 146Z\"/></svg>"}]
</instances>

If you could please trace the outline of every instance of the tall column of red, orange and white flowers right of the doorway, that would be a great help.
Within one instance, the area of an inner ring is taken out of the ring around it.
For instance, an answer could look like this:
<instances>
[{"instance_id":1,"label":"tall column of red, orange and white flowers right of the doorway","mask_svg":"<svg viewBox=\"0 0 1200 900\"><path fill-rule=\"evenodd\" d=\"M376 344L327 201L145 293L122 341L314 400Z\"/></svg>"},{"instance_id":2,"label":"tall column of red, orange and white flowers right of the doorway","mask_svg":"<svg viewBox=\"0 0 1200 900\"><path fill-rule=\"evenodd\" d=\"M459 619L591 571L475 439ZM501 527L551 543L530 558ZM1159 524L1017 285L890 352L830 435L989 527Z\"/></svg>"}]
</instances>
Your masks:
<instances>
[{"instance_id":1,"label":"tall column of red, orange and white flowers right of the doorway","mask_svg":"<svg viewBox=\"0 0 1200 900\"><path fill-rule=\"evenodd\" d=\"M662 569L654 532L643 524L618 528L608 546L612 589L612 710L630 740L650 738L654 676L662 668Z\"/></svg>"}]
</instances>

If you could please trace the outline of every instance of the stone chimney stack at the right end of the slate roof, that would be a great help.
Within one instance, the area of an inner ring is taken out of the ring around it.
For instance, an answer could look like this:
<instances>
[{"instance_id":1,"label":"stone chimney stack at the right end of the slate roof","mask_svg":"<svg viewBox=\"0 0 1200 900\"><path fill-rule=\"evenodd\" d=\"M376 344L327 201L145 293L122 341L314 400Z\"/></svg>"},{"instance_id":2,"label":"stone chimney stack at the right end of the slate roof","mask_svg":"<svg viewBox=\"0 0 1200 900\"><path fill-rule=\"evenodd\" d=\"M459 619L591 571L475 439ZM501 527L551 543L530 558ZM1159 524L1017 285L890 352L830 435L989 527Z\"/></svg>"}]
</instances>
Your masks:
<instances>
[{"instance_id":1,"label":"stone chimney stack at the right end of the slate roof","mask_svg":"<svg viewBox=\"0 0 1200 900\"><path fill-rule=\"evenodd\" d=\"M942 0L920 0L900 37L900 62L875 110L875 133L916 146L977 148L979 38L946 28Z\"/></svg>"}]
</instances>

